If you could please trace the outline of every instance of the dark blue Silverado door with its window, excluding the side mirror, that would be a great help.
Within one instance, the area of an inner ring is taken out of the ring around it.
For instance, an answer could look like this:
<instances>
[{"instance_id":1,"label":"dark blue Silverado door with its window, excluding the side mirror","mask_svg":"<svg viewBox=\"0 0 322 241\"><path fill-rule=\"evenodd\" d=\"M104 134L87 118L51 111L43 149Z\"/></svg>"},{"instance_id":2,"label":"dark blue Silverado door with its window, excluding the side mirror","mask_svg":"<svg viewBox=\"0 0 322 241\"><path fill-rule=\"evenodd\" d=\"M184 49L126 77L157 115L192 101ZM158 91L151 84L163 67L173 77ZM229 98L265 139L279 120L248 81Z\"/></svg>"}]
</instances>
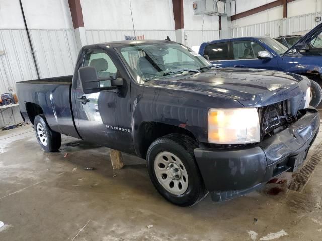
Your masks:
<instances>
[{"instance_id":1,"label":"dark blue Silverado door with its window, excluding the side mirror","mask_svg":"<svg viewBox=\"0 0 322 241\"><path fill-rule=\"evenodd\" d=\"M77 77L74 90L74 105L77 130L82 139L101 146L131 153L131 112L129 80L122 76L122 66L118 66L116 55L102 49L88 50L83 61L84 66L94 67L102 79L123 78L123 86L116 90L103 90L84 94ZM110 77L112 76L112 77ZM110 81L100 81L100 87L106 87ZM106 85L106 86L105 86ZM83 101L82 101L83 99ZM86 101L84 101L84 99Z\"/></svg>"}]
</instances>

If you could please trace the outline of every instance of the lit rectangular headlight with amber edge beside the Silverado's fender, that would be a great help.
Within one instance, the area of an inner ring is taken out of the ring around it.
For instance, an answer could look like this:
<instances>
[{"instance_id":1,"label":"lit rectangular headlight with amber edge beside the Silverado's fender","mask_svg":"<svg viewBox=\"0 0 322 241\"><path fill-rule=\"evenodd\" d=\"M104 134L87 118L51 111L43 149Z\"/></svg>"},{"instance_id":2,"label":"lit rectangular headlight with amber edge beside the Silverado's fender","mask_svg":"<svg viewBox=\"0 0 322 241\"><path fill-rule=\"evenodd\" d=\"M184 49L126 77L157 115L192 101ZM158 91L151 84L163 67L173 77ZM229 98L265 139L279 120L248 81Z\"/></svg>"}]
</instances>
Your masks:
<instances>
[{"instance_id":1,"label":"lit rectangular headlight with amber edge beside the Silverado's fender","mask_svg":"<svg viewBox=\"0 0 322 241\"><path fill-rule=\"evenodd\" d=\"M209 143L245 144L259 142L260 138L260 122L256 108L209 110Z\"/></svg>"}]
</instances>

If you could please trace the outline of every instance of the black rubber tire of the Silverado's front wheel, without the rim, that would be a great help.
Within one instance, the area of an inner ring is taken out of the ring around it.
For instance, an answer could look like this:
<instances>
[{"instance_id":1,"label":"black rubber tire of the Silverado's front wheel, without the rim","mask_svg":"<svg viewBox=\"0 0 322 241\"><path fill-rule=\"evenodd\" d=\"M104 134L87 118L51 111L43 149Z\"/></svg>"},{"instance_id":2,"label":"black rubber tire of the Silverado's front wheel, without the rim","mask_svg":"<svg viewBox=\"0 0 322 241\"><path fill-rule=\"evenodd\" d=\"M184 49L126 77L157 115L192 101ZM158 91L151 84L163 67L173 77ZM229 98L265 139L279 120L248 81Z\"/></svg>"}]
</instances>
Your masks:
<instances>
[{"instance_id":1,"label":"black rubber tire of the Silverado's front wheel, without the rim","mask_svg":"<svg viewBox=\"0 0 322 241\"><path fill-rule=\"evenodd\" d=\"M147 151L147 169L150 179L156 190L168 201L179 206L192 206L202 200L207 194L199 168L195 161L194 140L186 135L170 134L156 139ZM188 174L187 190L181 195L175 195L166 190L158 180L154 171L156 156L161 152L170 152L176 155L184 164Z\"/></svg>"}]
</instances>

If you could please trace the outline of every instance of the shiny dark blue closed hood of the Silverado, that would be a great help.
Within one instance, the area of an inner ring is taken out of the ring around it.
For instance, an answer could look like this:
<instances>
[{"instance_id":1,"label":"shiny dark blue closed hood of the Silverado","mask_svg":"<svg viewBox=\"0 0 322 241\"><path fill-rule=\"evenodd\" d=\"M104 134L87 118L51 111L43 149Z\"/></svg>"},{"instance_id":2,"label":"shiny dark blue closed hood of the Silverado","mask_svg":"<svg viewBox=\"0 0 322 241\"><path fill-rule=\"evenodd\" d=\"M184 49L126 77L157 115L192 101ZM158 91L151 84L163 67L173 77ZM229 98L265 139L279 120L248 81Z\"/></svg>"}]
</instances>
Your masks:
<instances>
[{"instance_id":1,"label":"shiny dark blue closed hood of the Silverado","mask_svg":"<svg viewBox=\"0 0 322 241\"><path fill-rule=\"evenodd\" d=\"M145 85L198 91L207 95L232 98L245 107L260 107L302 94L310 83L306 77L292 73L220 68L193 75L154 79L147 81Z\"/></svg>"}]
</instances>

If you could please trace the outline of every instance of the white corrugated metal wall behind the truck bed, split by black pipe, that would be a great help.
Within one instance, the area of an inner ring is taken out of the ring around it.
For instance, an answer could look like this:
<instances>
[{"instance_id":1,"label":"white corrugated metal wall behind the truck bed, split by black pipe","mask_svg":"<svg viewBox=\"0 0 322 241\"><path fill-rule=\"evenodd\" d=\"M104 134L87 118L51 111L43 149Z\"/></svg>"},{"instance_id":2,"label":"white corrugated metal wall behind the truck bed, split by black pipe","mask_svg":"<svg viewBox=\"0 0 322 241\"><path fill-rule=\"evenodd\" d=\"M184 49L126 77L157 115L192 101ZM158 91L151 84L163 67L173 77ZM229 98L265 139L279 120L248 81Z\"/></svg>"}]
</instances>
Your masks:
<instances>
[{"instance_id":1,"label":"white corrugated metal wall behind the truck bed, split by black pipe","mask_svg":"<svg viewBox=\"0 0 322 241\"><path fill-rule=\"evenodd\" d=\"M40 78L70 75L76 62L78 50L73 29L31 29ZM37 79L25 29L0 29L0 93L16 82ZM19 108L1 109L0 127L22 121Z\"/></svg>"}]
</instances>

